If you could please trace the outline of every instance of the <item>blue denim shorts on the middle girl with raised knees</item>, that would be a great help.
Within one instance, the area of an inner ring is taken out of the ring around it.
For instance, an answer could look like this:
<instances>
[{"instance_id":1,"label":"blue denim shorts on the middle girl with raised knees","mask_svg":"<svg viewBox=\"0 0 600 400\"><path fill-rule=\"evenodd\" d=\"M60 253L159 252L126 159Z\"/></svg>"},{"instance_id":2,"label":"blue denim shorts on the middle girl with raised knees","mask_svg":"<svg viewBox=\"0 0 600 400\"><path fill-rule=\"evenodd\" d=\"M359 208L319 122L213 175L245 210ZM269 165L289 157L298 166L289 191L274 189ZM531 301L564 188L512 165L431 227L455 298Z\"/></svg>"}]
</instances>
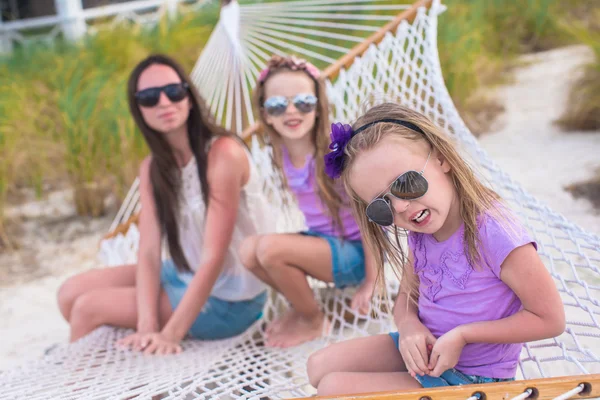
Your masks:
<instances>
[{"instance_id":1,"label":"blue denim shorts on the middle girl with raised knees","mask_svg":"<svg viewBox=\"0 0 600 400\"><path fill-rule=\"evenodd\" d=\"M303 235L327 240L333 263L333 283L337 288L358 286L365 279L365 251L360 240L342 240L319 232L306 231Z\"/></svg>"}]
</instances>

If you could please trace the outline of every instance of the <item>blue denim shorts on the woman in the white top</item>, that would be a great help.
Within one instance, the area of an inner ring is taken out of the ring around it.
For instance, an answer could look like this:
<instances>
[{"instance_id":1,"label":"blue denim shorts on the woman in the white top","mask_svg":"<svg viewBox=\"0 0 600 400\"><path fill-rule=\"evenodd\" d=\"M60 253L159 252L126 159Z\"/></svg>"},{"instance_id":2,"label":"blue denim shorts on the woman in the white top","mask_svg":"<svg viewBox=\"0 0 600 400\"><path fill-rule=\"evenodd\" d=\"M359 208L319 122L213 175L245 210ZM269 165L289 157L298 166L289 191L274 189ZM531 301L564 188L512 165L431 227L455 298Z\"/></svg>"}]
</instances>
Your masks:
<instances>
[{"instance_id":1,"label":"blue denim shorts on the woman in the white top","mask_svg":"<svg viewBox=\"0 0 600 400\"><path fill-rule=\"evenodd\" d=\"M187 284L179 276L180 273L172 260L163 261L160 283L169 296L173 309L177 307L187 290ZM266 300L266 291L245 301L226 301L210 296L190 327L188 335L203 340L225 339L239 335L262 316Z\"/></svg>"}]
</instances>

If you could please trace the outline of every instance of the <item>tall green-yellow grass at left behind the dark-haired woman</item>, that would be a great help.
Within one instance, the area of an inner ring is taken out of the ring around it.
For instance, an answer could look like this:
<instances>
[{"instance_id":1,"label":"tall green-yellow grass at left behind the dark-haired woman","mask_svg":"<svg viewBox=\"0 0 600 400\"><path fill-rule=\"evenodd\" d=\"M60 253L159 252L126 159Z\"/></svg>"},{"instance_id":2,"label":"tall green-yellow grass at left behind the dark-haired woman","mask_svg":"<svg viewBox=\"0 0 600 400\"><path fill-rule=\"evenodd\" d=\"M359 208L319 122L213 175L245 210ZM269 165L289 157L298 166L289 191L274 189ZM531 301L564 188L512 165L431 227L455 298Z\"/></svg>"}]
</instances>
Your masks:
<instances>
[{"instance_id":1,"label":"tall green-yellow grass at left behind the dark-haired woman","mask_svg":"<svg viewBox=\"0 0 600 400\"><path fill-rule=\"evenodd\" d=\"M122 197L147 154L128 111L130 71L155 52L191 71L217 18L210 6L152 29L123 24L80 45L32 44L1 58L0 210L10 191L41 196L53 180L102 182Z\"/></svg>"}]
</instances>

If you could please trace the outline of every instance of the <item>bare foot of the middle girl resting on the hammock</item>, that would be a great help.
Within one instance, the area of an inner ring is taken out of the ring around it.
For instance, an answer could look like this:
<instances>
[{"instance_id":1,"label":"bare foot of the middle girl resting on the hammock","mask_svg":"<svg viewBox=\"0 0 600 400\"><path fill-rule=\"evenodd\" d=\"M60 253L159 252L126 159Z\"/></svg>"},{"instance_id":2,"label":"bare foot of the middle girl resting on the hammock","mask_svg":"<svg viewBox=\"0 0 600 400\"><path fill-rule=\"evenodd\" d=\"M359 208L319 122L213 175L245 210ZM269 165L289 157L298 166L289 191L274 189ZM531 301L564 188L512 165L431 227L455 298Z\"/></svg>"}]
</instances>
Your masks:
<instances>
[{"instance_id":1,"label":"bare foot of the middle girl resting on the hammock","mask_svg":"<svg viewBox=\"0 0 600 400\"><path fill-rule=\"evenodd\" d=\"M330 322L319 312L307 319L302 314L290 310L280 320L277 330L273 329L267 337L267 347L292 347L321 337L323 329L329 332Z\"/></svg>"}]
</instances>

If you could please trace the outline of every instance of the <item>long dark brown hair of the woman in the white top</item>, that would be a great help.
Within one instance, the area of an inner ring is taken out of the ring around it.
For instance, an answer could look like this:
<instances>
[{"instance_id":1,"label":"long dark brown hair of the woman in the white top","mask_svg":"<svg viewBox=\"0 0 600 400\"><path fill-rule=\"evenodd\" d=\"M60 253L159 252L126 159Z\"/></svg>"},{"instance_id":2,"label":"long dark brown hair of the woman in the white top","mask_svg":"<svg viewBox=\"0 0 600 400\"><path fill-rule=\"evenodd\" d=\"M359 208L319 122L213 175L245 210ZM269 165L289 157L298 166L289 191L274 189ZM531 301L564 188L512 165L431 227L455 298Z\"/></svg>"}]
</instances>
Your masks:
<instances>
[{"instance_id":1,"label":"long dark brown hair of the woman in the white top","mask_svg":"<svg viewBox=\"0 0 600 400\"><path fill-rule=\"evenodd\" d=\"M179 211L178 200L181 189L181 175L175 155L171 146L165 140L164 135L146 124L135 100L140 75L151 65L166 65L171 67L181 81L187 83L189 87L188 98L191 109L187 120L187 133L190 147L198 165L198 177L200 179L200 187L202 188L202 197L207 209L208 199L210 198L210 188L206 174L208 162L207 144L213 136L232 136L232 134L214 122L208 107L202 97L200 97L193 82L188 78L181 65L172 58L162 54L151 55L142 60L131 72L127 86L129 110L152 153L150 182L152 184L154 201L156 202L156 213L160 224L161 238L166 236L169 253L177 268L190 271L190 265L181 249L179 238L177 216Z\"/></svg>"}]
</instances>

